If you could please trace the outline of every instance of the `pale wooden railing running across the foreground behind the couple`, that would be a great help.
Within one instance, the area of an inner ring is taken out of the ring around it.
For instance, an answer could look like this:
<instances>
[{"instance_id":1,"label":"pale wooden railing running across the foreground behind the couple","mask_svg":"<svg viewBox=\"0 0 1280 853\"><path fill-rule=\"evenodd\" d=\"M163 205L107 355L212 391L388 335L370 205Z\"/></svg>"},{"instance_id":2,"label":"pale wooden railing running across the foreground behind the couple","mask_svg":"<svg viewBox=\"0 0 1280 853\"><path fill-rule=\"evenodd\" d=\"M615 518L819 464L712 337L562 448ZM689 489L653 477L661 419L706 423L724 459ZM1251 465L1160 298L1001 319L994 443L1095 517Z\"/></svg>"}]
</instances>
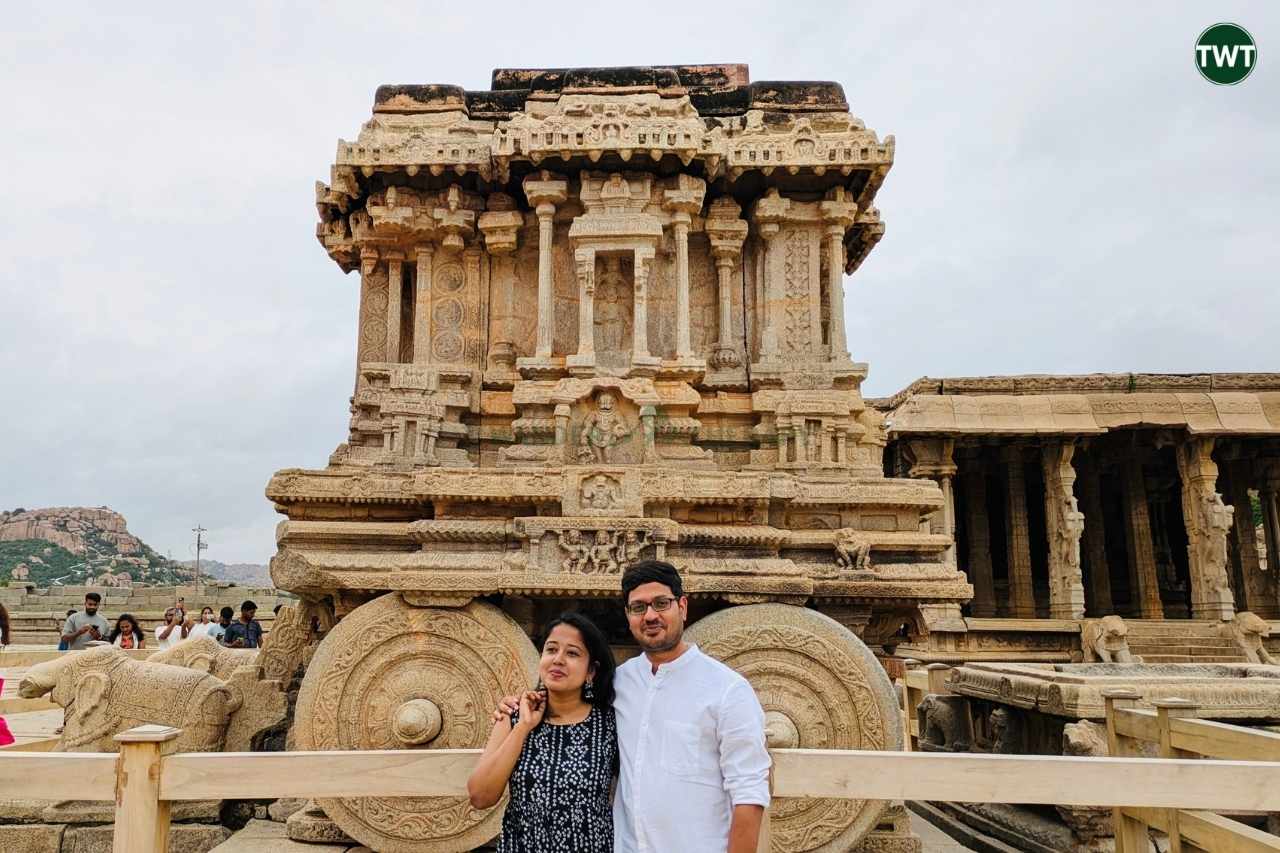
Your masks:
<instances>
[{"instance_id":1,"label":"pale wooden railing running across the foreground behind the couple","mask_svg":"<svg viewBox=\"0 0 1280 853\"><path fill-rule=\"evenodd\" d=\"M1166 715L1167 716L1167 715ZM1137 840L1144 826L1169 826L1179 809L1183 850L1280 850L1280 839L1221 829L1212 811L1280 811L1280 753L1252 757L1253 740L1220 724L1170 726L1171 747L1230 760L1075 758L928 752L773 751L776 797L925 799L1115 807ZM1116 738L1158 731L1158 715L1112 712ZM1176 734L1175 734L1176 733ZM0 800L115 800L115 853L168 848L169 803L271 797L461 797L477 749L180 753L163 756L179 731L140 726L116 736L120 753L0 753ZM1280 740L1280 736L1276 736ZM1181 811L1203 809L1203 811ZM1132 829L1130 829L1132 827ZM1228 831L1231 834L1229 835ZM762 844L768 850L768 831ZM1144 835L1142 836L1146 838ZM1231 839L1219 844L1217 839ZM1208 843L1210 847L1204 847ZM1196 847L1188 847L1194 844ZM1146 847L1124 848L1123 853Z\"/></svg>"}]
</instances>

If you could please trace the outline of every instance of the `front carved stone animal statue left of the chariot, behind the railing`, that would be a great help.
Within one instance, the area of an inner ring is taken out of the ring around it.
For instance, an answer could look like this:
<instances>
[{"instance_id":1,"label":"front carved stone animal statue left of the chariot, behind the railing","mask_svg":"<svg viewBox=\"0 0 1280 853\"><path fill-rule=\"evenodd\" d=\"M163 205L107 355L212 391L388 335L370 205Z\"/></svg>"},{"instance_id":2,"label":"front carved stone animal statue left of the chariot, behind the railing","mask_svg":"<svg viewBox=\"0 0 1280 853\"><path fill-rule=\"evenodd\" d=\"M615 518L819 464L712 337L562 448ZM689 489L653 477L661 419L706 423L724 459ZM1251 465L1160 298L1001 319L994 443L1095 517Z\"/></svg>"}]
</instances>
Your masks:
<instances>
[{"instance_id":1,"label":"front carved stone animal statue left of the chariot, behind the railing","mask_svg":"<svg viewBox=\"0 0 1280 853\"><path fill-rule=\"evenodd\" d=\"M223 748L242 699L207 672L132 660L100 646L31 667L18 685L23 698L50 694L65 721L59 752L116 752L113 735L142 724L182 729L177 752Z\"/></svg>"}]
</instances>

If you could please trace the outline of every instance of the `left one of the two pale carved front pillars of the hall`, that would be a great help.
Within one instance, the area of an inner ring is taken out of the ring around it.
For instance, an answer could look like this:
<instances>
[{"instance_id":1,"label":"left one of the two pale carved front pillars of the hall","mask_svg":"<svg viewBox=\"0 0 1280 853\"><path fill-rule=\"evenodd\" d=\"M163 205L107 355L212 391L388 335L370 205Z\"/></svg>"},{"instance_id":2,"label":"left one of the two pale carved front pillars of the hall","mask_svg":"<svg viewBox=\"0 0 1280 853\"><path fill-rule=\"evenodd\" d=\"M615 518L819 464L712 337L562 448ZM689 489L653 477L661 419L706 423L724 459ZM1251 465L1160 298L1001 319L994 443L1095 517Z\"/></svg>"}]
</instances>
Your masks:
<instances>
[{"instance_id":1,"label":"left one of the two pale carved front pillars of the hall","mask_svg":"<svg viewBox=\"0 0 1280 853\"><path fill-rule=\"evenodd\" d=\"M1050 619L1084 616L1084 578L1080 573L1080 534L1084 515L1075 502L1075 469L1071 441L1051 442L1041 448L1044 473L1044 526L1048 539Z\"/></svg>"}]
</instances>

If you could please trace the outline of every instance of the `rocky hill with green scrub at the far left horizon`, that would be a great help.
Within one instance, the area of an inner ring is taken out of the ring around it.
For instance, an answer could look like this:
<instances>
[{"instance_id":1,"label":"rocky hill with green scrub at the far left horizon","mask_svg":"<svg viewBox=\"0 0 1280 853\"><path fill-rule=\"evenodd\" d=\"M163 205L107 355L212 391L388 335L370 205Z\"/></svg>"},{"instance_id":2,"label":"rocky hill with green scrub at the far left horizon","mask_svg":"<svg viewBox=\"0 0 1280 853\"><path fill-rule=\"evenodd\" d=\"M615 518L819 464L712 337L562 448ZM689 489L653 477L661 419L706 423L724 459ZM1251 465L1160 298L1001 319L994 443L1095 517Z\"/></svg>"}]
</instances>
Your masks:
<instances>
[{"instance_id":1,"label":"rocky hill with green scrub at the far left horizon","mask_svg":"<svg viewBox=\"0 0 1280 853\"><path fill-rule=\"evenodd\" d=\"M189 575L105 506L0 511L0 583L129 587L179 584Z\"/></svg>"}]
</instances>

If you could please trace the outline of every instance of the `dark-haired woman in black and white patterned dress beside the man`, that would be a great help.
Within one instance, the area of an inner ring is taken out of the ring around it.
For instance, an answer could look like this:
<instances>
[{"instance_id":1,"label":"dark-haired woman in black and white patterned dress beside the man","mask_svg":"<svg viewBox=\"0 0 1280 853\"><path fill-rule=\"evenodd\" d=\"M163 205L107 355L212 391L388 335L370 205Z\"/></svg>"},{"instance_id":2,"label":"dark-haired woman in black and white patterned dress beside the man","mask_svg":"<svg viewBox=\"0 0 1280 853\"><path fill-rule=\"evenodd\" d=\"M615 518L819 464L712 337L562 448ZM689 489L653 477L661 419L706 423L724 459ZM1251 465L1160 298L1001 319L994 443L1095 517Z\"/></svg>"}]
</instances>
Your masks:
<instances>
[{"instance_id":1,"label":"dark-haired woman in black and white patterned dress beside the man","mask_svg":"<svg viewBox=\"0 0 1280 853\"><path fill-rule=\"evenodd\" d=\"M548 625L539 689L494 724L467 780L475 808L497 804L511 785L498 853L613 850L613 670L608 640L590 619L563 613Z\"/></svg>"}]
</instances>

